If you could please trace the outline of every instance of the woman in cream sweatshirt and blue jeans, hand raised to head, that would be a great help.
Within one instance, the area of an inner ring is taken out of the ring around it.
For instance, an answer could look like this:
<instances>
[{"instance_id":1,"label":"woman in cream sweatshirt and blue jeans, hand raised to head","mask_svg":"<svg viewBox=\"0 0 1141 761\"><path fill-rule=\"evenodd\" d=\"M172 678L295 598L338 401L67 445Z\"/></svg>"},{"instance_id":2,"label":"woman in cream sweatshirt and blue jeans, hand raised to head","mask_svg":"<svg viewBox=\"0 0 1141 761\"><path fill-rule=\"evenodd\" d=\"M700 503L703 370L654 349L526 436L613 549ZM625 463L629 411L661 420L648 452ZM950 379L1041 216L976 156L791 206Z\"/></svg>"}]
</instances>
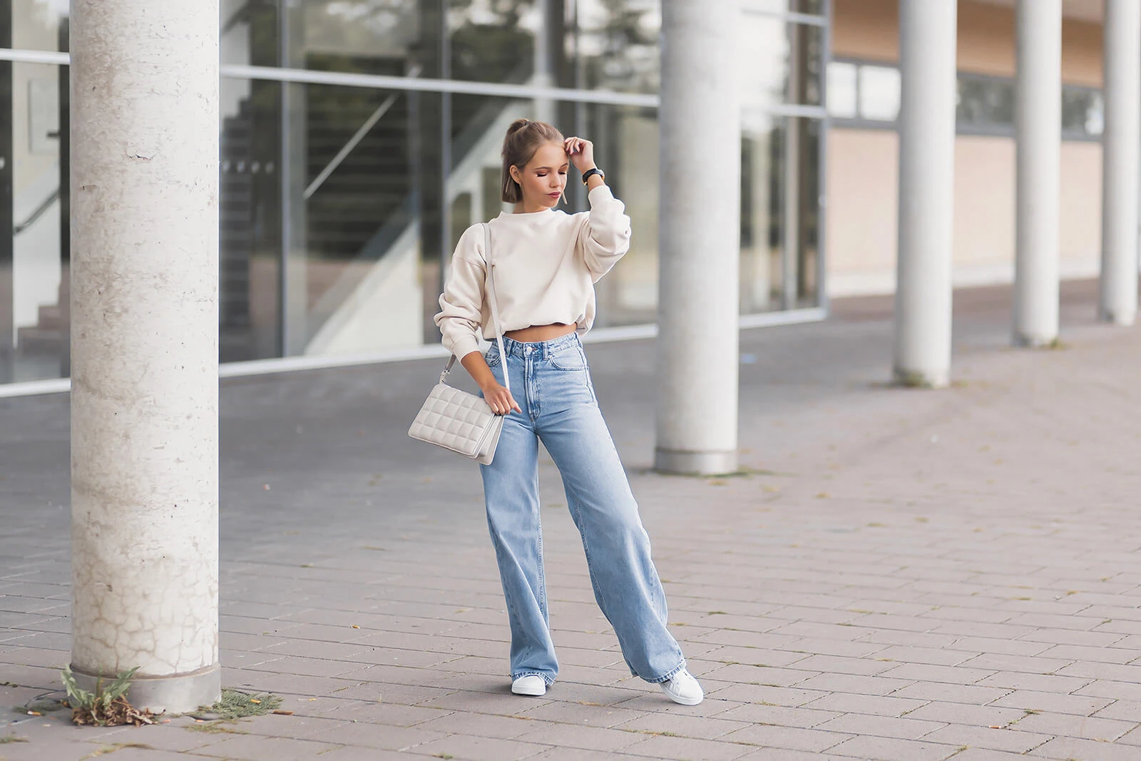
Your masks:
<instances>
[{"instance_id":1,"label":"woman in cream sweatshirt and blue jeans, hand raised to head","mask_svg":"<svg viewBox=\"0 0 1141 761\"><path fill-rule=\"evenodd\" d=\"M594 599L614 626L631 673L661 685L677 703L704 694L666 630L665 593L650 560L622 462L598 410L578 340L594 322L594 283L630 248L624 204L594 165L594 147L552 126L520 119L503 140L502 197L515 213L489 222L495 298L508 356L494 339L484 293L482 225L455 249L436 324L447 347L505 415L489 465L482 465L487 525L511 625L511 691L543 695L558 674L543 580L539 517L539 442L558 465L582 535ZM591 210L553 211L569 161L582 172ZM504 373L518 398L504 388Z\"/></svg>"}]
</instances>

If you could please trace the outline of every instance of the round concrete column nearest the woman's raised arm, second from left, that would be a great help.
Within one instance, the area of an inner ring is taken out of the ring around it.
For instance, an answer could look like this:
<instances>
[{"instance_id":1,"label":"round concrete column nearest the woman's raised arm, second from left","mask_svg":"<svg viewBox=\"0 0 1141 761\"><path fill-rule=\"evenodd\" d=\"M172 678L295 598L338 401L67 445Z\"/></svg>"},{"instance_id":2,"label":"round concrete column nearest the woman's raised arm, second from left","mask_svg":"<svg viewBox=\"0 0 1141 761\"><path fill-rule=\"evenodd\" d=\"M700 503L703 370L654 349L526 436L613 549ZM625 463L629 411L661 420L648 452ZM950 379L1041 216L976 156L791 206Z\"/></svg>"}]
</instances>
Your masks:
<instances>
[{"instance_id":1,"label":"round concrete column nearest the woman's raised arm, second from left","mask_svg":"<svg viewBox=\"0 0 1141 761\"><path fill-rule=\"evenodd\" d=\"M737 469L738 0L662 3L657 448L664 472Z\"/></svg>"}]
</instances>

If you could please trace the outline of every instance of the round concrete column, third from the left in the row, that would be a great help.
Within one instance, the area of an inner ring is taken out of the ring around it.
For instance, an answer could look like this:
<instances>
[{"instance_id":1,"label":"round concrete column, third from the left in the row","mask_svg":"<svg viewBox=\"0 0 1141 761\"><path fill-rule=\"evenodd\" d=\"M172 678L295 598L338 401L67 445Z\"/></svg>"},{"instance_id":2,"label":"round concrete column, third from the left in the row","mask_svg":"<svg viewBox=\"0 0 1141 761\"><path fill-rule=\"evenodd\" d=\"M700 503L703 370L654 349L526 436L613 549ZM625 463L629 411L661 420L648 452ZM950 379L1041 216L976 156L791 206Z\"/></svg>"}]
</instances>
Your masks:
<instances>
[{"instance_id":1,"label":"round concrete column, third from the left in the row","mask_svg":"<svg viewBox=\"0 0 1141 761\"><path fill-rule=\"evenodd\" d=\"M895 379L950 374L955 171L955 0L900 0L899 260Z\"/></svg>"}]
</instances>

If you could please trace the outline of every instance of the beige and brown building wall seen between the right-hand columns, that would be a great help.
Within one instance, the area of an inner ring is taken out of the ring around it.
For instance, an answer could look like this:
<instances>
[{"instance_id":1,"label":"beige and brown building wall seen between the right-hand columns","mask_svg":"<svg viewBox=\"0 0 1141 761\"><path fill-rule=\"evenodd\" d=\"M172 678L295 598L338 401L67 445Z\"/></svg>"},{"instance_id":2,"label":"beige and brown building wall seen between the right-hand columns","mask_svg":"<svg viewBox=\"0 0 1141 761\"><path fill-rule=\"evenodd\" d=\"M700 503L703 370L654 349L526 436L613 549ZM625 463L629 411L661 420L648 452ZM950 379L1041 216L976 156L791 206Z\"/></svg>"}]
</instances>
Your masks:
<instances>
[{"instance_id":1,"label":"beige and brown building wall seen between the right-hand columns","mask_svg":"<svg viewBox=\"0 0 1141 761\"><path fill-rule=\"evenodd\" d=\"M898 0L834 0L833 56L898 63ZM963 72L1014 75L1012 8L961 1ZM1101 27L1065 19L1062 79L1101 87ZM889 293L896 281L899 139L890 129L828 131L827 241L832 297ZM955 144L956 285L1010 282L1014 272L1014 140L960 135ZM1061 273L1095 275L1100 257L1101 146L1061 148Z\"/></svg>"}]
</instances>

